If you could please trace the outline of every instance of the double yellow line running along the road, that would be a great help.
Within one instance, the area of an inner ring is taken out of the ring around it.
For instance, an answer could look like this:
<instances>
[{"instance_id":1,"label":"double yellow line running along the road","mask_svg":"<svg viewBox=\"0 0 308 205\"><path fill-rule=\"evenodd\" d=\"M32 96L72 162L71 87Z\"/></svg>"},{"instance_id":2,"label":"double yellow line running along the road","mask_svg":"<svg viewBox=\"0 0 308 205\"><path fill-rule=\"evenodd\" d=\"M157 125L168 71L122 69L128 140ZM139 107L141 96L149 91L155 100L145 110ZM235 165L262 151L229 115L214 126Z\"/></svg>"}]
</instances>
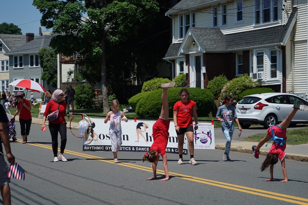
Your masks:
<instances>
[{"instance_id":1,"label":"double yellow line running along the road","mask_svg":"<svg viewBox=\"0 0 308 205\"><path fill-rule=\"evenodd\" d=\"M22 142L22 140L18 140L18 142ZM31 142L28 142L27 144L34 145L34 146L37 146L37 147L46 148L46 149L52 149L51 146L44 145L44 144L36 144L36 143L31 143ZM60 149L58 149L58 150L60 151ZM108 162L108 163L113 164L113 160L108 160L108 159L102 158L102 157L88 155L88 154L84 154L84 153L80 153L80 152L74 152L74 151L70 151L70 150L67 150L67 149L65 150L65 153L75 155L75 156L84 157L84 158L88 158L88 159L98 159L99 161ZM152 168L148 168L148 167L144 167L144 166L140 166L140 165L136 165L136 164L129 164L129 163L126 163L126 162L121 162L117 165L129 167L129 168L134 168L134 169L139 169L139 170L143 170L143 171L149 171L149 172L153 171ZM162 174L162 175L165 174L164 170L159 170L159 169L156 170L156 173ZM235 185L235 184L199 178L199 177L195 177L195 176L183 175L183 174L174 173L174 172L169 172L169 175L176 177L176 178L179 178L179 179L185 179L185 180L189 180L189 181L193 181L193 182L197 182L197 183L208 184L208 185L212 185L212 186L215 186L215 187L221 187L221 188L231 189L231 190L234 190L234 191L240 191L240 192L244 192L244 193L248 193L248 194L259 195L259 196L268 197L268 198L271 198L271 199L277 199L277 200L280 200L280 201L286 201L286 202L290 202L290 203L294 203L294 204L306 204L306 205L308 205L308 199L306 199L306 198L281 194L281 193L277 193L277 192L265 191L265 190L261 190L261 189L250 188L250 187L244 187L244 186L239 186L239 185Z\"/></svg>"}]
</instances>

